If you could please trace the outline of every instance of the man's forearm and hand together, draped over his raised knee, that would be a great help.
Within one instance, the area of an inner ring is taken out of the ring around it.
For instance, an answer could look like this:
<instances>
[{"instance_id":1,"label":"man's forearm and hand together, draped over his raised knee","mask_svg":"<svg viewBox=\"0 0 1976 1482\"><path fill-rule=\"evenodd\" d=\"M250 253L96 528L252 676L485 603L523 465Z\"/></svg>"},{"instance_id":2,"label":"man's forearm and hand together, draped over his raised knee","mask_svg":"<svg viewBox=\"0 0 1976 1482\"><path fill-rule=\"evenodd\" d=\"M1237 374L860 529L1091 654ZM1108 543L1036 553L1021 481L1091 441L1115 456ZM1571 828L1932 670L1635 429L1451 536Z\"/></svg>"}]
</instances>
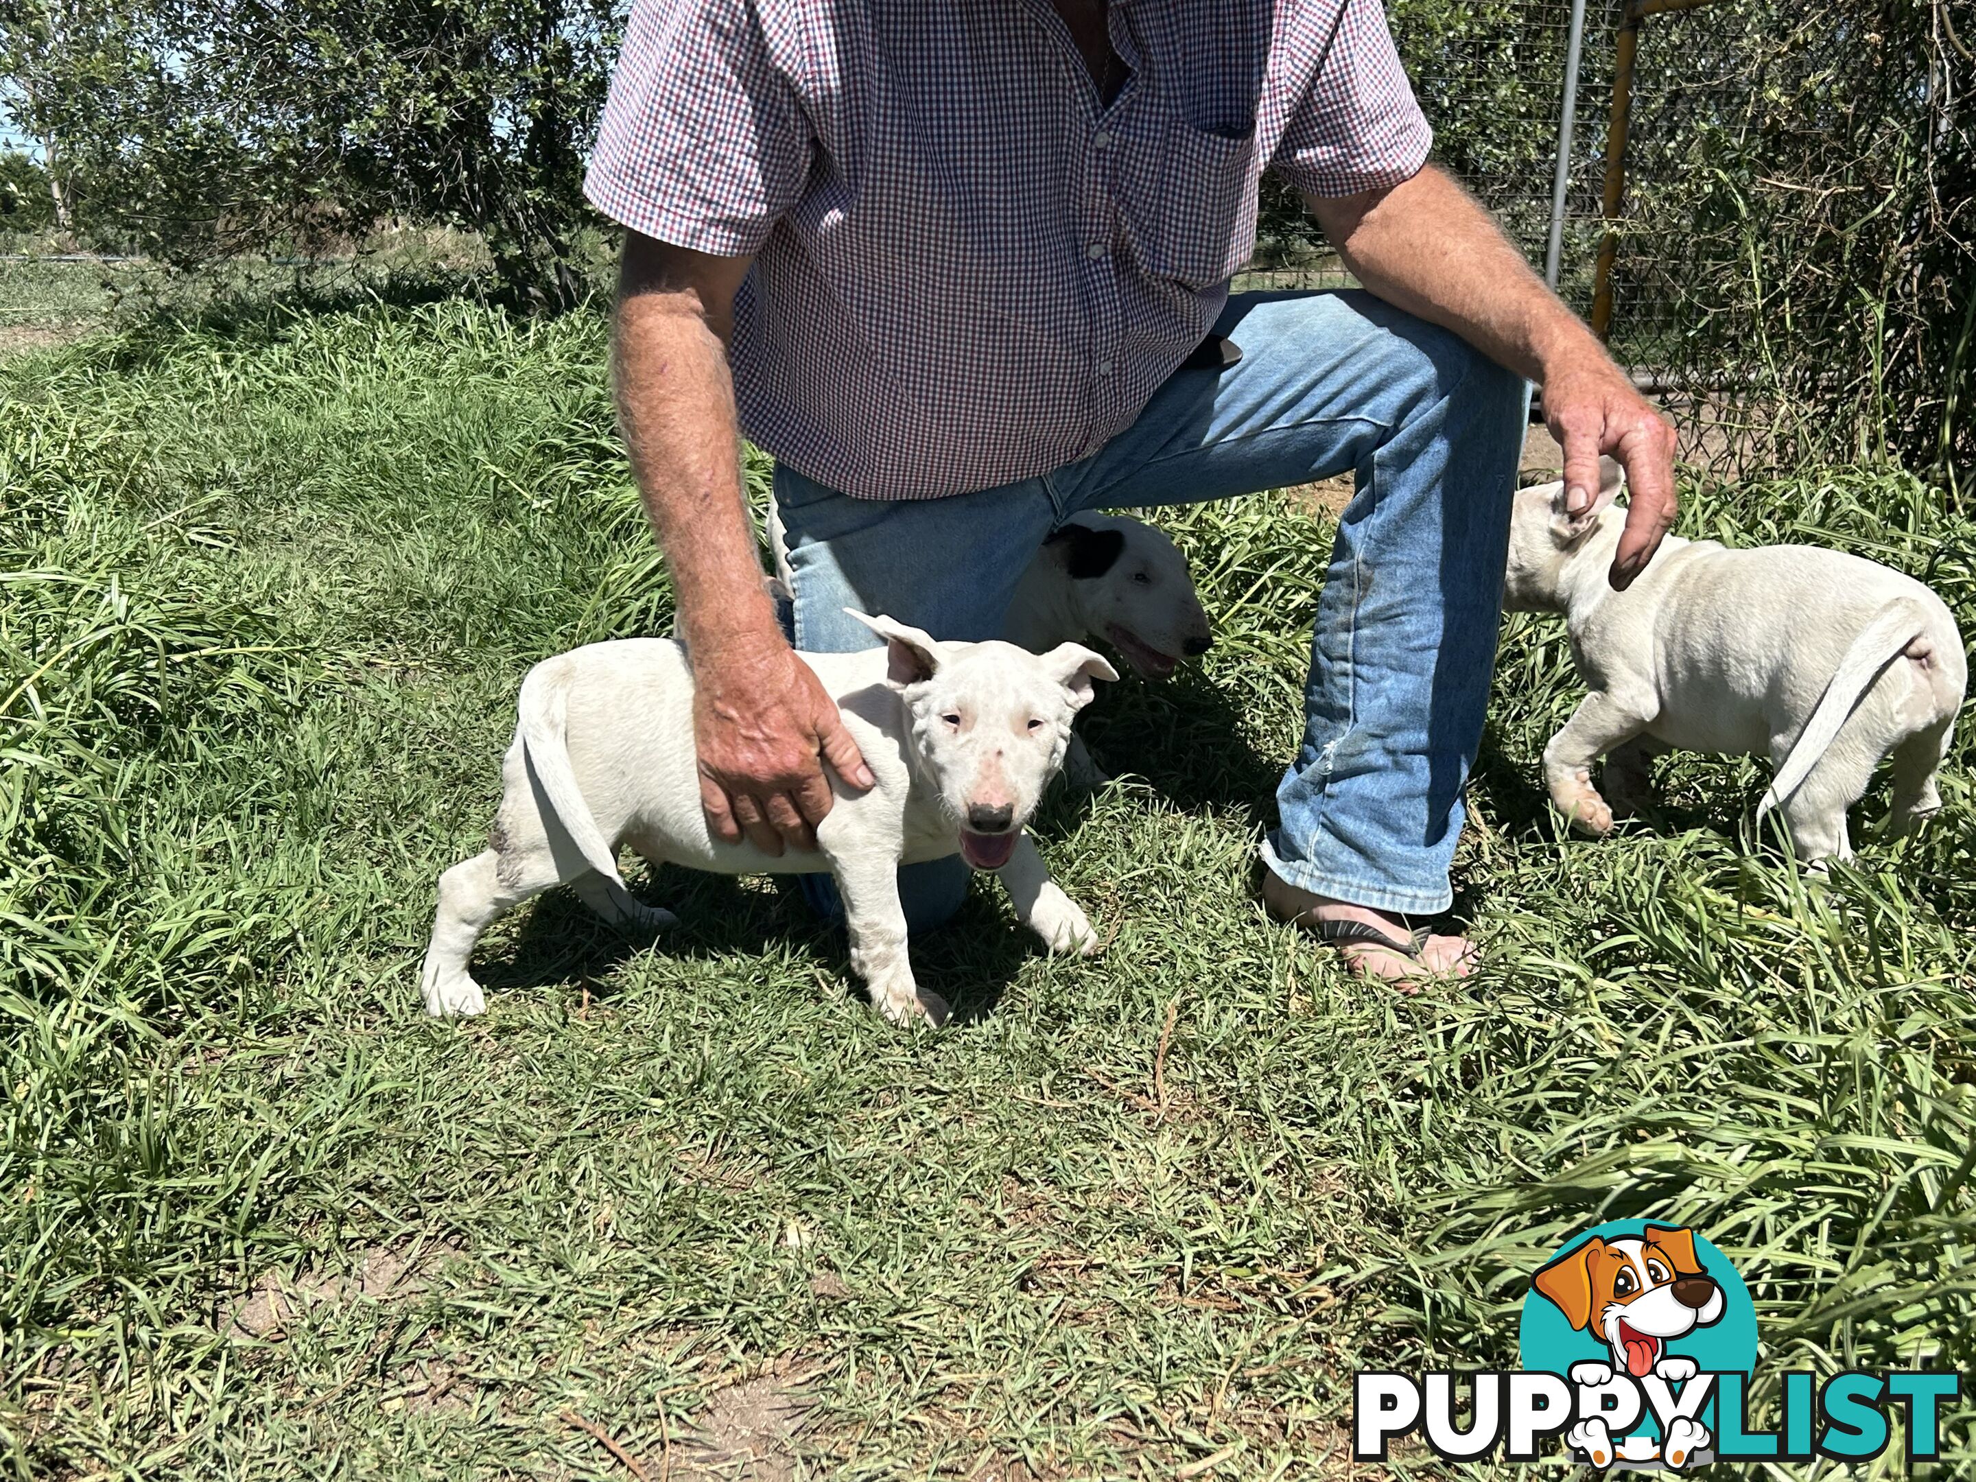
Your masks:
<instances>
[{"instance_id":1,"label":"man's forearm and hand together, draped over his raised knee","mask_svg":"<svg viewBox=\"0 0 1976 1482\"><path fill-rule=\"evenodd\" d=\"M1674 524L1672 423L1632 389L1490 213L1435 166L1397 186L1304 204L1359 283L1543 387L1571 510L1591 504L1601 453L1626 466L1626 534L1610 581L1630 585Z\"/></svg>"}]
</instances>

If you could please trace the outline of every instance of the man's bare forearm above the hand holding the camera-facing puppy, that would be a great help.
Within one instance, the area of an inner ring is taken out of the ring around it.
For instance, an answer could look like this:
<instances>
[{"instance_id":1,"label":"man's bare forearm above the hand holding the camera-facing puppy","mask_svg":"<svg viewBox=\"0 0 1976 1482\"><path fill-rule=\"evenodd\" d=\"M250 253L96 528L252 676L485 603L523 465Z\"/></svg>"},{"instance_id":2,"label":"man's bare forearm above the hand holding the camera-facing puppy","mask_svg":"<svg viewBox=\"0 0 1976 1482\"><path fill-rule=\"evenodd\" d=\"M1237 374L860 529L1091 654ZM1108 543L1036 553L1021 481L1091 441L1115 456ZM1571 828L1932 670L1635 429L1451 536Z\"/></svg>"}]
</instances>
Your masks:
<instances>
[{"instance_id":1,"label":"man's bare forearm above the hand holding the camera-facing puppy","mask_svg":"<svg viewBox=\"0 0 1976 1482\"><path fill-rule=\"evenodd\" d=\"M696 656L779 638L741 496L727 352L700 296L628 294L613 352L618 423Z\"/></svg>"}]
</instances>

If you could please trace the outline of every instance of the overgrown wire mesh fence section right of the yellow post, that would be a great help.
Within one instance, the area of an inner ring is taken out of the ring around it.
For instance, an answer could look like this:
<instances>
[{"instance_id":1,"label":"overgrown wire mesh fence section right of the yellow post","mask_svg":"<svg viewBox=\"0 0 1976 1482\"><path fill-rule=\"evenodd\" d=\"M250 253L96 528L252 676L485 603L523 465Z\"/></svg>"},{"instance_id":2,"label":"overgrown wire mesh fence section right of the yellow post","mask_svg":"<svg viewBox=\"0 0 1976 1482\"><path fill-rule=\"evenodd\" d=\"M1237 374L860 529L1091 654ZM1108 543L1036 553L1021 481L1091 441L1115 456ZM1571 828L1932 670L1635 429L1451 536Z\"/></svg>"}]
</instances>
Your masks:
<instances>
[{"instance_id":1,"label":"overgrown wire mesh fence section right of the yellow post","mask_svg":"<svg viewBox=\"0 0 1976 1482\"><path fill-rule=\"evenodd\" d=\"M1976 202L1946 14L1711 0L1642 22L1612 344L1693 453L1966 466Z\"/></svg>"}]
</instances>

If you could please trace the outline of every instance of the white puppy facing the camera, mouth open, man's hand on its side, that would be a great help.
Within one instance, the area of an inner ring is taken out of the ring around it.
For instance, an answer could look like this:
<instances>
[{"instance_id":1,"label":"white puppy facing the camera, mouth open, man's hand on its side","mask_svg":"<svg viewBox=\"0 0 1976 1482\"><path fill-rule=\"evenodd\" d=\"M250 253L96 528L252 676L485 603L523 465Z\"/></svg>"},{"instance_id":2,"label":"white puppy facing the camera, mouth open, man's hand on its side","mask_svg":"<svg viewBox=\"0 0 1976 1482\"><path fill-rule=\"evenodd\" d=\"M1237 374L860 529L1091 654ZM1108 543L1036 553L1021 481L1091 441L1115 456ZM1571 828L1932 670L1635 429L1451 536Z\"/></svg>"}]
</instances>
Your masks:
<instances>
[{"instance_id":1,"label":"white puppy facing the camera, mouth open, man's hand on its side","mask_svg":"<svg viewBox=\"0 0 1976 1482\"><path fill-rule=\"evenodd\" d=\"M937 642L919 628L854 613L885 638L858 654L802 654L836 696L844 725L877 779L867 792L830 777L836 796L816 852L769 856L725 844L700 808L694 676L670 638L589 644L530 670L502 763L504 794L490 848L439 877L425 950L429 1014L480 1014L466 972L480 933L551 885L573 885L607 921L676 921L632 899L617 852L725 875L828 869L844 897L852 968L893 1024L947 1018L921 994L905 947L901 864L958 852L1002 875L1016 915L1053 952L1097 950L1085 913L1057 887L1024 834L1063 765L1071 719L1093 680L1118 674L1099 654L1061 644L1029 654L1006 642Z\"/></svg>"}]
</instances>

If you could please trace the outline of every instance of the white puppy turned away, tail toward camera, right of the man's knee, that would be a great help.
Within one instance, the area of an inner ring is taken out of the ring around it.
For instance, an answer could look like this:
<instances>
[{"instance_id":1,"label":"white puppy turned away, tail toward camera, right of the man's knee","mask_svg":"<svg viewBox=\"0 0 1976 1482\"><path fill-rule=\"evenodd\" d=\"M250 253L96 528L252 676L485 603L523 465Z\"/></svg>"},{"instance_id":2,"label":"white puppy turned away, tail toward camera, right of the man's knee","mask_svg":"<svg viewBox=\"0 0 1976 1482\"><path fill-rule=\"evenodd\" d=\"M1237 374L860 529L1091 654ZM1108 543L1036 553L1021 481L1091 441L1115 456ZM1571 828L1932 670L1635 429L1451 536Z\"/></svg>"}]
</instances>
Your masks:
<instances>
[{"instance_id":1,"label":"white puppy turned away, tail toward camera, right of the man's knee","mask_svg":"<svg viewBox=\"0 0 1976 1482\"><path fill-rule=\"evenodd\" d=\"M1968 682L1948 607L1913 577L1844 551L1668 535L1626 591L1606 571L1624 528L1622 474L1565 510L1563 484L1516 496L1508 609L1563 613L1591 694L1543 749L1551 802L1605 834L1612 808L1591 782L1644 782L1648 747L1765 755L1774 781L1757 810L1782 808L1798 854L1852 854L1846 810L1893 753L1895 834L1942 806L1935 771Z\"/></svg>"}]
</instances>

